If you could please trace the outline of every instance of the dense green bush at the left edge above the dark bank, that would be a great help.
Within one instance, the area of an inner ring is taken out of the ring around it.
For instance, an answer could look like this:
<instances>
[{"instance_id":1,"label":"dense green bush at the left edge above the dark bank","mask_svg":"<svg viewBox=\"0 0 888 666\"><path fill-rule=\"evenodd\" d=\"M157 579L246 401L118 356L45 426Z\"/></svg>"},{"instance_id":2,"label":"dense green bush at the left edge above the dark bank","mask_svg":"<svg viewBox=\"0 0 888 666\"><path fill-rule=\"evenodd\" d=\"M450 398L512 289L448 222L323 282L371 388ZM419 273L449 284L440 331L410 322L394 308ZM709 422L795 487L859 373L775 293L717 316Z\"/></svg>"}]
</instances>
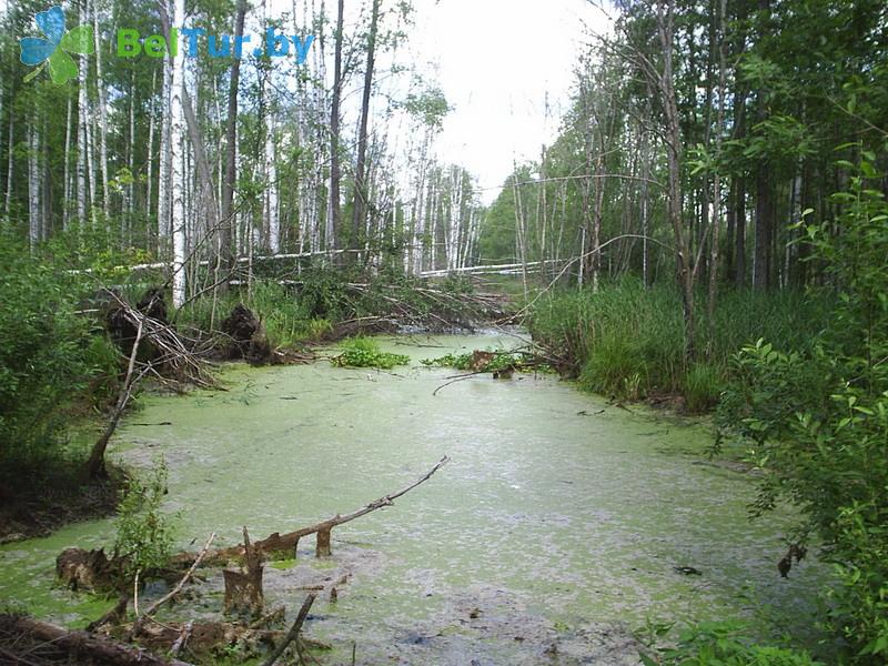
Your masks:
<instances>
[{"instance_id":1,"label":"dense green bush at the left edge above the dark bank","mask_svg":"<svg viewBox=\"0 0 888 666\"><path fill-rule=\"evenodd\" d=\"M37 464L58 447L63 407L114 362L74 314L77 285L0 235L0 461Z\"/></svg>"}]
</instances>

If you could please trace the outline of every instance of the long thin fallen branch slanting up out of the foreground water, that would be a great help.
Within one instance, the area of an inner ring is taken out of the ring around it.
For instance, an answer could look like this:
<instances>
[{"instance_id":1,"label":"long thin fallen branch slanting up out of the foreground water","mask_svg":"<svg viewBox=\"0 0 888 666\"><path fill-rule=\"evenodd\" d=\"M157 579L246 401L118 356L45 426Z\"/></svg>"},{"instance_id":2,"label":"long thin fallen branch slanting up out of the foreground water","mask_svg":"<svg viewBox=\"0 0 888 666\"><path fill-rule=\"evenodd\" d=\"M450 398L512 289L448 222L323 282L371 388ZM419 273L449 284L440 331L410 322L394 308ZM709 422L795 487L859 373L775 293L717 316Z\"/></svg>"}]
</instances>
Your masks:
<instances>
[{"instance_id":1,"label":"long thin fallen branch slanting up out of the foreground water","mask_svg":"<svg viewBox=\"0 0 888 666\"><path fill-rule=\"evenodd\" d=\"M354 521L355 518L360 518L361 516L365 516L369 513L372 513L379 508L383 508L385 506L391 506L394 504L394 501L405 495L420 484L428 481L432 475L437 472L441 467L443 467L450 457L446 455L441 458L434 467L432 467L428 472L426 472L423 476L421 476L417 481L413 482L405 488L397 491L396 493L391 493L379 500L371 502L363 508L360 508L355 512L352 512L346 515L336 514L335 516L327 518L326 521L321 521L320 523L315 523L314 525L310 525L309 527L302 527L301 529L295 529L293 532L289 532L286 534L281 534L280 532L275 532L274 534L270 535L262 541L254 542L252 544L253 549L262 555L269 557L270 559L286 559L289 557L296 556L296 548L299 547L299 542L303 536L309 536L312 534L317 535L317 543L315 545L315 556L316 557L329 557L332 554L330 539L331 539L331 532L333 527L342 525L344 523L349 523ZM228 564L229 562L243 562L244 559L244 545L240 544L236 546L232 546L230 548L221 548L219 551L213 551L206 553L203 557L203 564L208 566L222 566ZM173 565L185 567L191 566L195 558L198 557L194 553L180 553L179 555L173 557Z\"/></svg>"}]
</instances>

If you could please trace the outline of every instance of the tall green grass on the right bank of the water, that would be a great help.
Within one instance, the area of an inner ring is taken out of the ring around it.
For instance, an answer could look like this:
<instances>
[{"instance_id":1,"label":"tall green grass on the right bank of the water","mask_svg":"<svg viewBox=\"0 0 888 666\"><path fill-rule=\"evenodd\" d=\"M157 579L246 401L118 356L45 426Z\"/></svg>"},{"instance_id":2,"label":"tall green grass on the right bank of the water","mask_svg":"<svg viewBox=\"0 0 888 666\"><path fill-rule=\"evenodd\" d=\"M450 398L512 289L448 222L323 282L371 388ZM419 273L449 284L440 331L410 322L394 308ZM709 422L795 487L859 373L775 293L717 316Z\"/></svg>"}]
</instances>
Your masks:
<instances>
[{"instance_id":1,"label":"tall green grass on the right bank of the water","mask_svg":"<svg viewBox=\"0 0 888 666\"><path fill-rule=\"evenodd\" d=\"M680 394L690 412L715 406L731 376L733 356L764 337L781 349L803 350L825 325L828 303L794 291L728 291L712 320L706 295L697 295L696 357L684 357L685 333L678 291L645 289L623 280L541 299L531 313L534 339L568 361L583 389L619 398Z\"/></svg>"}]
</instances>

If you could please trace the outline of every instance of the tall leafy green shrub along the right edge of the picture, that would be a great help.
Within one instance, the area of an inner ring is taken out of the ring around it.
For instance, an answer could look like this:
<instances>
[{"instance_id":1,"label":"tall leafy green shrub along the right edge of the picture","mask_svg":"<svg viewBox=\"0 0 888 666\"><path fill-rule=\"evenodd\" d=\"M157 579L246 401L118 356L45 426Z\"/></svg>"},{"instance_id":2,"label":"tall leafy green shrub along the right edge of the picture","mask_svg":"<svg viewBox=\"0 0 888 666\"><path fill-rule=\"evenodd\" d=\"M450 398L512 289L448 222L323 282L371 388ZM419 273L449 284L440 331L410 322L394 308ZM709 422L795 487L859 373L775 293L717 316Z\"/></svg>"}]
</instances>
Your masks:
<instances>
[{"instance_id":1,"label":"tall leafy green shrub along the right edge of the picture","mask_svg":"<svg viewBox=\"0 0 888 666\"><path fill-rule=\"evenodd\" d=\"M718 414L764 473L757 508L793 502L798 532L823 542L839 581L828 624L861 664L888 658L888 204L875 175L864 161L834 225L800 225L839 296L829 325L806 350L744 347Z\"/></svg>"}]
</instances>

